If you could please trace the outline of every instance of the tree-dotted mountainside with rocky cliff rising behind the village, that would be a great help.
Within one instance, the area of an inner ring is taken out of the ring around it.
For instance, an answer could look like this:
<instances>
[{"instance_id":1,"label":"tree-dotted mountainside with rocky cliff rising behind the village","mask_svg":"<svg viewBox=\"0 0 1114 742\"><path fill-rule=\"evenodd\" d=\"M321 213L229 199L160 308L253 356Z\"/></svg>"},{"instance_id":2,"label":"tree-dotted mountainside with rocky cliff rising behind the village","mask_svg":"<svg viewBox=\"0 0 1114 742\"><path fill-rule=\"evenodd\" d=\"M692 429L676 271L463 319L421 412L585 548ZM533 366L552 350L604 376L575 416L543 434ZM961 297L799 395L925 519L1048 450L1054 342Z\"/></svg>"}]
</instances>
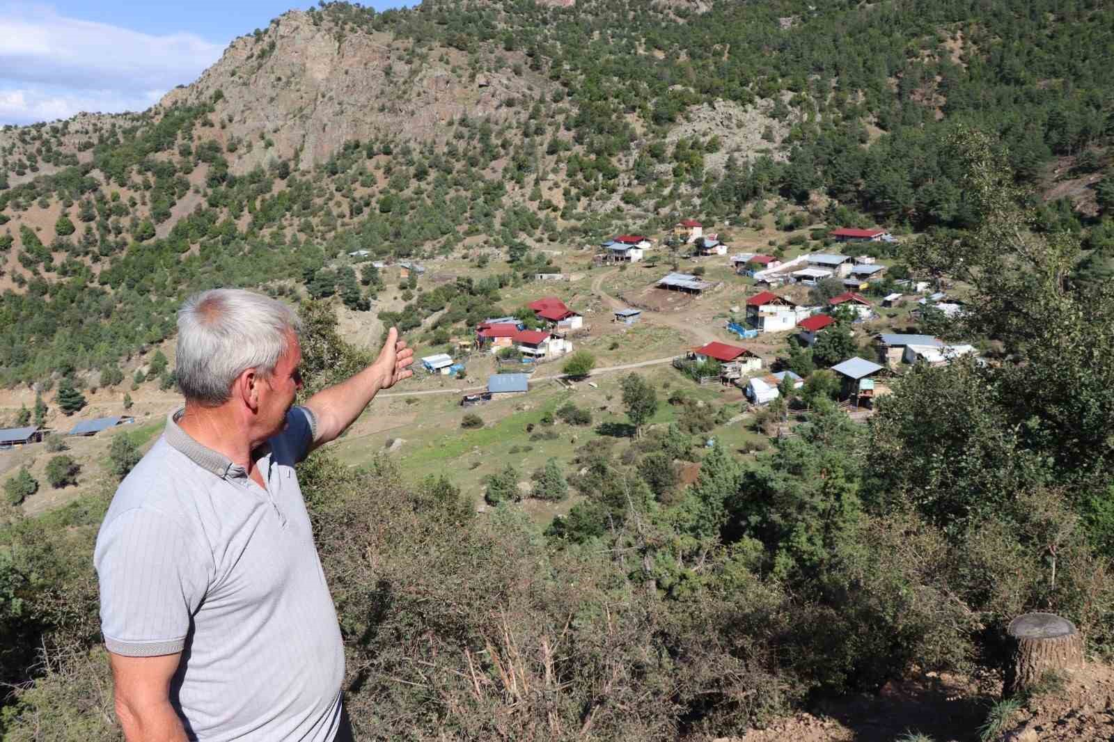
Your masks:
<instances>
[{"instance_id":1,"label":"tree-dotted mountainside with rocky cliff rising behind the village","mask_svg":"<svg viewBox=\"0 0 1114 742\"><path fill-rule=\"evenodd\" d=\"M0 133L0 382L115 379L215 283L370 306L355 250L471 247L506 282L543 246L745 224L771 198L795 224L962 228L959 125L1062 196L1039 227L1085 233L1106 275L1112 20L1013 0L292 11L145 114Z\"/></svg>"}]
</instances>

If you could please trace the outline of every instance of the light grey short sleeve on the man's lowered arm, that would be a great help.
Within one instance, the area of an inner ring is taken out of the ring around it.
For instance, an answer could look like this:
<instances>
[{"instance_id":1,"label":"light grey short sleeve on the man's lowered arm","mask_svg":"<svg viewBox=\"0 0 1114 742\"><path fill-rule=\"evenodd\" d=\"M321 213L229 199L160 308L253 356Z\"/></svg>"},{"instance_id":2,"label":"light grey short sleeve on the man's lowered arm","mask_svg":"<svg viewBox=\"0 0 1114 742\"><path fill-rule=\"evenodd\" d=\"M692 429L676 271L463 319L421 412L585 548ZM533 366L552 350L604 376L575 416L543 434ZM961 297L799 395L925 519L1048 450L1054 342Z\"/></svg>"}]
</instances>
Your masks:
<instances>
[{"instance_id":1,"label":"light grey short sleeve on the man's lowered arm","mask_svg":"<svg viewBox=\"0 0 1114 742\"><path fill-rule=\"evenodd\" d=\"M104 525L94 563L109 652L129 657L180 652L208 589L212 555L167 515L134 508Z\"/></svg>"}]
</instances>

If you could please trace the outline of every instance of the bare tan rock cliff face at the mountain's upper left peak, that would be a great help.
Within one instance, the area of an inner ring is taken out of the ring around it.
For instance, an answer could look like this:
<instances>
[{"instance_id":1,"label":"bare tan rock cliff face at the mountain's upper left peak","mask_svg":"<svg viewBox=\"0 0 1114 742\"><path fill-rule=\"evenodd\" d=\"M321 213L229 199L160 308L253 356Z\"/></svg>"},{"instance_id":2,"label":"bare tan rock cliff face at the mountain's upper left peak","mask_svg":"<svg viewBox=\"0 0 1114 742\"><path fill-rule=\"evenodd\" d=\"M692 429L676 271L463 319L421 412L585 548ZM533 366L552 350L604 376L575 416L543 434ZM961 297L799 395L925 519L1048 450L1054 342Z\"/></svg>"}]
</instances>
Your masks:
<instances>
[{"instance_id":1,"label":"bare tan rock cliff face at the mountain's upper left peak","mask_svg":"<svg viewBox=\"0 0 1114 742\"><path fill-rule=\"evenodd\" d=\"M372 137L440 140L447 124L467 116L492 124L519 120L549 87L525 65L478 70L456 49L414 52L387 33L344 32L302 11L266 31L232 42L193 85L168 92L162 107L215 101L217 138L237 146L235 172L290 158L305 169L345 141Z\"/></svg>"}]
</instances>

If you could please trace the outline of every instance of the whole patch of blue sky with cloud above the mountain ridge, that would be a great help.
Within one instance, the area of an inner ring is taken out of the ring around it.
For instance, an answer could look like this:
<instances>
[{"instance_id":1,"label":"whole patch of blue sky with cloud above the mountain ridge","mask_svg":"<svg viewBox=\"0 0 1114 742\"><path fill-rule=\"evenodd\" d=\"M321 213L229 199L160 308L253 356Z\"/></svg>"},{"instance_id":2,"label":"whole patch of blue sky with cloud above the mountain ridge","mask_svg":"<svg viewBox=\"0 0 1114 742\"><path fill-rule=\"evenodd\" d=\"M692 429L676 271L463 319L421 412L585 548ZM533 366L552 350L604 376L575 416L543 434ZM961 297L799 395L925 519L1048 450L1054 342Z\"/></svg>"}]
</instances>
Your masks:
<instances>
[{"instance_id":1,"label":"whole patch of blue sky with cloud above the mountain ridge","mask_svg":"<svg viewBox=\"0 0 1114 742\"><path fill-rule=\"evenodd\" d=\"M0 124L143 110L290 0L0 0ZM377 10L410 4L364 2Z\"/></svg>"}]
</instances>

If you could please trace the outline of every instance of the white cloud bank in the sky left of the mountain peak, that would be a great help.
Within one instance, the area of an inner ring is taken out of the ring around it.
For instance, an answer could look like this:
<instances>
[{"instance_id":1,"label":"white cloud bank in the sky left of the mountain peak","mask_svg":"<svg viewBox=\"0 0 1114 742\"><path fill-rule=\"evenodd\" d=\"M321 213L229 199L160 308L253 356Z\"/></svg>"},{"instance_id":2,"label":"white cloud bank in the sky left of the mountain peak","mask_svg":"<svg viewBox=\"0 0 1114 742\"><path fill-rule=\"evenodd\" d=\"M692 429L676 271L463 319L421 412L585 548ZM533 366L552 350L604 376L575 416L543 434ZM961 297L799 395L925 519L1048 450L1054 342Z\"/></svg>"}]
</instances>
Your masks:
<instances>
[{"instance_id":1,"label":"white cloud bank in the sky left of the mountain peak","mask_svg":"<svg viewBox=\"0 0 1114 742\"><path fill-rule=\"evenodd\" d=\"M193 33L152 36L46 7L0 6L0 124L143 110L222 50Z\"/></svg>"}]
</instances>

